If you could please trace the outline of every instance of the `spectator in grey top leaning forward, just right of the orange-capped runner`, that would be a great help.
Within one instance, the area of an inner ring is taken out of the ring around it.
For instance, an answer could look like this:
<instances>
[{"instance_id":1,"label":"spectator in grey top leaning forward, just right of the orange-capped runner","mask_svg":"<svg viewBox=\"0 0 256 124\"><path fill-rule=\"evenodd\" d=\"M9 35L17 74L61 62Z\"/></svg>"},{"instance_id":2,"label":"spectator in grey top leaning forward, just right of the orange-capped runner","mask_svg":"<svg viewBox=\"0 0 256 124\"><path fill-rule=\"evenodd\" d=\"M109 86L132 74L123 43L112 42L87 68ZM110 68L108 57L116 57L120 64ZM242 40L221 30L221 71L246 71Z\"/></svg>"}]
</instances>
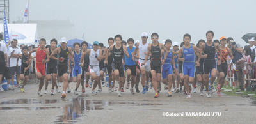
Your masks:
<instances>
[{"instance_id":1,"label":"spectator in grey top leaning forward, just right of the orange-capped runner","mask_svg":"<svg viewBox=\"0 0 256 124\"><path fill-rule=\"evenodd\" d=\"M237 79L239 83L239 90L238 91L244 91L244 81L243 81L243 75L244 75L244 63L246 62L246 56L243 53L243 48L240 44L236 44L234 40L230 40L230 47L232 47L232 53L234 56L234 59L232 59L232 62L236 64L236 74Z\"/></svg>"}]
</instances>

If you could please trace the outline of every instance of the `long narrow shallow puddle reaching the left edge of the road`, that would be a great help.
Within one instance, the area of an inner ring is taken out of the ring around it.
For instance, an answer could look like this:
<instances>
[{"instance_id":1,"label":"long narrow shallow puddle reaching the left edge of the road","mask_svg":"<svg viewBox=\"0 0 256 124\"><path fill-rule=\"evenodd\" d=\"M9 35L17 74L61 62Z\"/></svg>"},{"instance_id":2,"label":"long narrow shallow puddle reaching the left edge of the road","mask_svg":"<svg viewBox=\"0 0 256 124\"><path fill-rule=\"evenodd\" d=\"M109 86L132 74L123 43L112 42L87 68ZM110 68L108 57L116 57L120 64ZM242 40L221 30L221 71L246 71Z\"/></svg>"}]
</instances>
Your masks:
<instances>
[{"instance_id":1,"label":"long narrow shallow puddle reaching the left edge of the road","mask_svg":"<svg viewBox=\"0 0 256 124\"><path fill-rule=\"evenodd\" d=\"M57 102L60 102L60 100L13 99L3 101L1 104L53 104Z\"/></svg>"}]
</instances>

